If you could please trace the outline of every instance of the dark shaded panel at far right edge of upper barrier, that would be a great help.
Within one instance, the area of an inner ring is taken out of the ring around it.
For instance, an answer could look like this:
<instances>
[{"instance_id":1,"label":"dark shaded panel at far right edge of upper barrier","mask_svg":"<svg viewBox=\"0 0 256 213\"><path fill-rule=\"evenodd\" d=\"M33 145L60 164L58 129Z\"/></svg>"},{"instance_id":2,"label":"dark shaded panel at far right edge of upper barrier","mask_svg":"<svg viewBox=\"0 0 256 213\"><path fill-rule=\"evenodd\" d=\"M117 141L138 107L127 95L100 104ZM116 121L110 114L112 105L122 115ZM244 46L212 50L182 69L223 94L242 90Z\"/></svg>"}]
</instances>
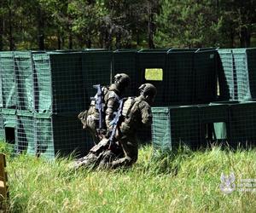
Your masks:
<instances>
[{"instance_id":1,"label":"dark shaded panel at far right edge of upper barrier","mask_svg":"<svg viewBox=\"0 0 256 213\"><path fill-rule=\"evenodd\" d=\"M249 87L253 99L256 99L256 48L247 49L247 69Z\"/></svg>"}]
</instances>

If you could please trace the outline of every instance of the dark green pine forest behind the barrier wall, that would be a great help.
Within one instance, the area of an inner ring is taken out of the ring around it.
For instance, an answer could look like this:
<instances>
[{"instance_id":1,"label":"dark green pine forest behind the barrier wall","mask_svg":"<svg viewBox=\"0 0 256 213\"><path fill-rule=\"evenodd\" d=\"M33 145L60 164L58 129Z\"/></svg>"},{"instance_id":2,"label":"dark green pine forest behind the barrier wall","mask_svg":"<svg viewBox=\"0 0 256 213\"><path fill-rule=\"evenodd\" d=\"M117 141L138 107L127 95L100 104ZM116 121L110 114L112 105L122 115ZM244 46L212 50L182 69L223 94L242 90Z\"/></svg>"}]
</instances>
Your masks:
<instances>
[{"instance_id":1,"label":"dark green pine forest behind the barrier wall","mask_svg":"<svg viewBox=\"0 0 256 213\"><path fill-rule=\"evenodd\" d=\"M253 46L256 0L0 0L0 50Z\"/></svg>"}]
</instances>

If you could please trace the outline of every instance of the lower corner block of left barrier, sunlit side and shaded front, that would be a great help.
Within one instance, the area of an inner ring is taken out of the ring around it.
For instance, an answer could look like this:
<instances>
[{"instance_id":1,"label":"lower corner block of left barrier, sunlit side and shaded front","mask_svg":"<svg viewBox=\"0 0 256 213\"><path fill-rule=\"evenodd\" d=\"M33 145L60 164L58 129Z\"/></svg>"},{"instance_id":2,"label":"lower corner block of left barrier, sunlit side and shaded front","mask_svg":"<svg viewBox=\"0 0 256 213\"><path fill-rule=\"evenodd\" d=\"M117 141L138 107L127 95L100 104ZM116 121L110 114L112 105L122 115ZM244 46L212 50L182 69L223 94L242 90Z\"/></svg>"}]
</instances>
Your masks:
<instances>
[{"instance_id":1,"label":"lower corner block of left barrier, sunlit side and shaded front","mask_svg":"<svg viewBox=\"0 0 256 213\"><path fill-rule=\"evenodd\" d=\"M35 116L36 153L46 158L75 153L84 155L93 146L75 115Z\"/></svg>"}]
</instances>

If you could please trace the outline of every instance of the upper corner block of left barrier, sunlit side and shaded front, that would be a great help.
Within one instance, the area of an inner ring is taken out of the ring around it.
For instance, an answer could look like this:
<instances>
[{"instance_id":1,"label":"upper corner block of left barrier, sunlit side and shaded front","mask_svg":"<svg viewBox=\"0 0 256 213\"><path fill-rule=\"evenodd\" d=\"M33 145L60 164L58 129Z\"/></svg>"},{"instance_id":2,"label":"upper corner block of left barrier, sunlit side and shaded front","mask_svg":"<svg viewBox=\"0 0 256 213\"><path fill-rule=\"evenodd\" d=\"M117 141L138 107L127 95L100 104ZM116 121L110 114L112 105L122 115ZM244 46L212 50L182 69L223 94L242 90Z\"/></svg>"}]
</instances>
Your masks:
<instances>
[{"instance_id":1,"label":"upper corner block of left barrier, sunlit side and shaded front","mask_svg":"<svg viewBox=\"0 0 256 213\"><path fill-rule=\"evenodd\" d=\"M79 112L84 108L82 53L33 55L35 112Z\"/></svg>"}]
</instances>

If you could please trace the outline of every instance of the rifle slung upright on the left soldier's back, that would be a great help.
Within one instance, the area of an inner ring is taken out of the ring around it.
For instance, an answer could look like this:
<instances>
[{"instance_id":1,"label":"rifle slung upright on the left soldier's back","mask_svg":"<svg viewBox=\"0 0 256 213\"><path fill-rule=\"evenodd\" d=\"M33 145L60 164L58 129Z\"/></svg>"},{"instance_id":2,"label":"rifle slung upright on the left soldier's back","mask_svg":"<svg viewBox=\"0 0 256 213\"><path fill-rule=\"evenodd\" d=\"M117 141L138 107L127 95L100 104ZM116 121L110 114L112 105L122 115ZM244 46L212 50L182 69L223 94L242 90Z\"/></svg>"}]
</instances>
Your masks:
<instances>
[{"instance_id":1,"label":"rifle slung upright on the left soldier's back","mask_svg":"<svg viewBox=\"0 0 256 213\"><path fill-rule=\"evenodd\" d=\"M102 99L103 99L102 86L101 86L101 84L96 84L96 85L93 85L93 88L97 89L97 93L94 97L90 97L90 100L96 101L95 107L96 107L96 110L98 110L98 112L99 112L99 127L96 130L98 133L101 134L102 129L103 129L103 123L104 123L104 116L103 116L104 104L102 101Z\"/></svg>"}]
</instances>

